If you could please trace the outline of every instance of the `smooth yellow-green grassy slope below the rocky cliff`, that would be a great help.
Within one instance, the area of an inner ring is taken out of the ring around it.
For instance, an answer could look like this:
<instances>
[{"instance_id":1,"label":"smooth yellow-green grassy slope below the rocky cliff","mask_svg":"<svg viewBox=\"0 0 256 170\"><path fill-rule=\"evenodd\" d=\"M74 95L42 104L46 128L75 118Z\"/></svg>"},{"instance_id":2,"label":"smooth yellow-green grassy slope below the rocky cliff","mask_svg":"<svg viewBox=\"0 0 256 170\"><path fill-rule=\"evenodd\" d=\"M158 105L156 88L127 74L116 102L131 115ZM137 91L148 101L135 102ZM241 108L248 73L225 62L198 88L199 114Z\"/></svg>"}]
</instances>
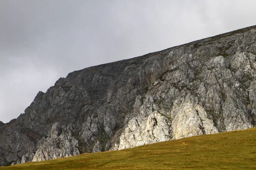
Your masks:
<instances>
[{"instance_id":1,"label":"smooth yellow-green grassy slope below the rocky cliff","mask_svg":"<svg viewBox=\"0 0 256 170\"><path fill-rule=\"evenodd\" d=\"M256 169L256 128L29 162L0 170L249 170Z\"/></svg>"}]
</instances>

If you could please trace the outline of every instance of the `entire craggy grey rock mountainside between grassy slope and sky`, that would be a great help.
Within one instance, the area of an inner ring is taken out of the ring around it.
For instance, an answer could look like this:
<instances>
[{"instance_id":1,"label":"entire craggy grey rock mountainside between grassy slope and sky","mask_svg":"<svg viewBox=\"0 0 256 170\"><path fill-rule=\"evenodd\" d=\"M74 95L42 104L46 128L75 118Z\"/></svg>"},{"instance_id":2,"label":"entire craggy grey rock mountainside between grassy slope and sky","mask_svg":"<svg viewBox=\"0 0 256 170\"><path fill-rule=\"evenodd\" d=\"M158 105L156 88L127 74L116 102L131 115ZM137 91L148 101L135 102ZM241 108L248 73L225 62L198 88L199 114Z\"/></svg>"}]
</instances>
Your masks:
<instances>
[{"instance_id":1,"label":"entire craggy grey rock mountainside between grassy slope and sky","mask_svg":"<svg viewBox=\"0 0 256 170\"><path fill-rule=\"evenodd\" d=\"M74 71L0 122L0 164L253 127L256 26Z\"/></svg>"}]
</instances>

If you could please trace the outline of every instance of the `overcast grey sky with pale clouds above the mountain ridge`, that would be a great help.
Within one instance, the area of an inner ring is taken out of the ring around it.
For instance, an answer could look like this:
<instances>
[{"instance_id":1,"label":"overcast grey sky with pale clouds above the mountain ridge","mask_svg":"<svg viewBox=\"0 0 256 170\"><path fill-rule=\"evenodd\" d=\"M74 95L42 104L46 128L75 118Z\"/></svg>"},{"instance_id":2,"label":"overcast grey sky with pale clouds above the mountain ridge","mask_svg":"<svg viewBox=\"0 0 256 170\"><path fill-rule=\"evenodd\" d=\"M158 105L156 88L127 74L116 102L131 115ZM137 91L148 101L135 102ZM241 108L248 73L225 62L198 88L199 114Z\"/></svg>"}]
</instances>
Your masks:
<instances>
[{"instance_id":1,"label":"overcast grey sky with pale clouds above the mountain ridge","mask_svg":"<svg viewBox=\"0 0 256 170\"><path fill-rule=\"evenodd\" d=\"M256 25L255 0L0 0L0 120L68 73Z\"/></svg>"}]
</instances>

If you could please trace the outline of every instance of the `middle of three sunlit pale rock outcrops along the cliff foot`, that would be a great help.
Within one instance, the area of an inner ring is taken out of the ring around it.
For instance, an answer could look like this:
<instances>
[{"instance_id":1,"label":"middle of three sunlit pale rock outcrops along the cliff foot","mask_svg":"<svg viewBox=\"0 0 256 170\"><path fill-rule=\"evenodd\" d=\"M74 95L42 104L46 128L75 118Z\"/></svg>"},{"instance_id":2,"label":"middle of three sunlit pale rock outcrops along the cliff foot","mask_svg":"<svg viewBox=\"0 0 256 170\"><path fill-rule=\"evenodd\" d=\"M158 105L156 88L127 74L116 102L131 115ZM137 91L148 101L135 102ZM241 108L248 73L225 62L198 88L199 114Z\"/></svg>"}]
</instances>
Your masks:
<instances>
[{"instance_id":1,"label":"middle of three sunlit pale rock outcrops along the cliff foot","mask_svg":"<svg viewBox=\"0 0 256 170\"><path fill-rule=\"evenodd\" d=\"M147 117L133 118L120 136L118 149L170 140L171 131L170 122L160 113L154 112Z\"/></svg>"}]
</instances>

